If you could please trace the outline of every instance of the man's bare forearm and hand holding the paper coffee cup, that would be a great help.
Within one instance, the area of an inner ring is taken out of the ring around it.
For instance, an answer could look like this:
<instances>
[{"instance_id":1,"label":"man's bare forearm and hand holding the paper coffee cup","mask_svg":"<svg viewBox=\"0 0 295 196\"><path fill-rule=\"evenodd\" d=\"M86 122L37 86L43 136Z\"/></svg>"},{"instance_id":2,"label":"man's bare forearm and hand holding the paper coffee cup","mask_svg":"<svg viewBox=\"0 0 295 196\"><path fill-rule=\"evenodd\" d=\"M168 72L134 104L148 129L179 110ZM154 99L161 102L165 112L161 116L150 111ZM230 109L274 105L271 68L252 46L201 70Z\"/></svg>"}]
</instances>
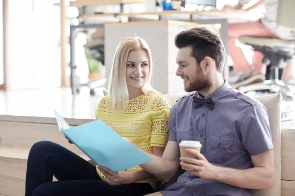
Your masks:
<instances>
[{"instance_id":1,"label":"man's bare forearm and hand holding the paper coffee cup","mask_svg":"<svg viewBox=\"0 0 295 196\"><path fill-rule=\"evenodd\" d=\"M213 179L244 189L269 189L275 181L273 149L251 156L254 168L237 170L210 164L197 150L186 149L197 158L180 157L180 165L187 172L201 178Z\"/></svg>"}]
</instances>

